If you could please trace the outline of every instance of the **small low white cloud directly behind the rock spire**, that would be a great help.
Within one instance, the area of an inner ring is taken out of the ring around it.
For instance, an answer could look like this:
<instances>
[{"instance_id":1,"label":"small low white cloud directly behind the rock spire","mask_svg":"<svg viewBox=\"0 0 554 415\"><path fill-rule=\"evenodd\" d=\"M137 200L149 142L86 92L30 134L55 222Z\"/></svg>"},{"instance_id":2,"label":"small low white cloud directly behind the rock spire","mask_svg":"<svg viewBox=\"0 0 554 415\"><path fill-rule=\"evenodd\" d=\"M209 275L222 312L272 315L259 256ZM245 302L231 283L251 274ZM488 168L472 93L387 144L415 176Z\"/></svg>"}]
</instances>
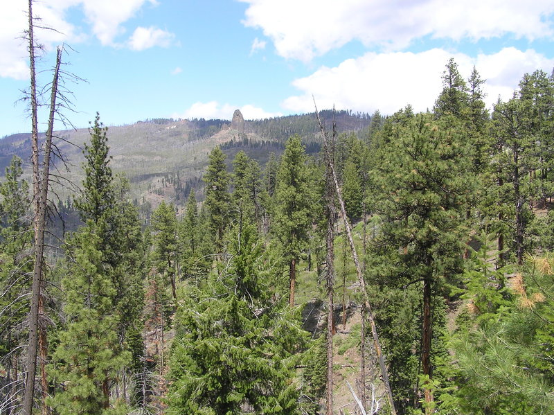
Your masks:
<instances>
[{"instance_id":1,"label":"small low white cloud directly behind the rock spire","mask_svg":"<svg viewBox=\"0 0 554 415\"><path fill-rule=\"evenodd\" d=\"M183 114L173 114L172 118L205 118L205 119L222 119L230 120L233 117L235 109L240 109L245 120L255 120L262 118L271 118L280 116L280 113L266 112L262 108L254 107L253 105L237 105L220 104L217 101L209 101L207 103L197 102L185 110Z\"/></svg>"}]
</instances>

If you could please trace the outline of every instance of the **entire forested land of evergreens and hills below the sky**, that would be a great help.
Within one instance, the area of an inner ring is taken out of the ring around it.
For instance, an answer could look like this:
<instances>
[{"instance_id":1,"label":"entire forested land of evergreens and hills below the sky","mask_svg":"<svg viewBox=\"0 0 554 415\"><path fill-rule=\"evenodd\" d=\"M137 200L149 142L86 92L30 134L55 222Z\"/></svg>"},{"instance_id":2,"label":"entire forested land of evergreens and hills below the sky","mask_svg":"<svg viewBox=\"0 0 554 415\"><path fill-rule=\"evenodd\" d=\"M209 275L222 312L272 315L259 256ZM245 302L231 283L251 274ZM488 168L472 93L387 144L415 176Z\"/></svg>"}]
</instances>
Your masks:
<instances>
[{"instance_id":1,"label":"entire forested land of evergreens and hills below the sky","mask_svg":"<svg viewBox=\"0 0 554 415\"><path fill-rule=\"evenodd\" d=\"M35 186L10 159L0 414L553 413L554 76L490 112L484 82L449 60L425 113L64 133L82 170L48 206L30 396Z\"/></svg>"}]
</instances>

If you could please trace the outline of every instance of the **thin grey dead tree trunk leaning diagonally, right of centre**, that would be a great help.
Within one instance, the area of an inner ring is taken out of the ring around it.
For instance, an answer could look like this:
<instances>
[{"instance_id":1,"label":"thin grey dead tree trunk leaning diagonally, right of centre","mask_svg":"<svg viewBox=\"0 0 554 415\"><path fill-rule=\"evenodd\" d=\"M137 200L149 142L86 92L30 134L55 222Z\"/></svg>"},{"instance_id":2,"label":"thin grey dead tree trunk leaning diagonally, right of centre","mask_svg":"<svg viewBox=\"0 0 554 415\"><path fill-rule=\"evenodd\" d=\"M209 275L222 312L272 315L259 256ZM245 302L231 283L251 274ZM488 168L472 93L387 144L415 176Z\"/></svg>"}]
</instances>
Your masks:
<instances>
[{"instance_id":1,"label":"thin grey dead tree trunk leaning diagonally, right of centre","mask_svg":"<svg viewBox=\"0 0 554 415\"><path fill-rule=\"evenodd\" d=\"M317 105L314 99L314 107L316 110L316 117L317 121L319 123L319 128L321 129L321 136L323 136L323 147L325 148L325 151L327 151L328 147L328 137L327 132L325 131L325 127L323 126L323 123L321 122L321 118L319 117L319 112L317 110ZM350 244L350 250L352 251L352 259L354 260L354 265L356 267L356 272L358 276L359 285L361 287L361 292L364 294L364 307L366 309L366 313L368 316L369 324L371 326L371 334L373 335L373 344L375 346L375 354L377 355L377 360L379 361L379 367L381 369L381 376L384 383L384 387L386 389L386 394L388 396L388 401L391 405L391 414L396 415L396 410L394 407L394 400L393 400L393 393L391 391L391 385L388 382L388 374L386 372L386 365L385 365L385 359L384 355L381 350L381 344L379 342L379 335L377 334L377 327L375 326L375 319L373 318L373 311L371 309L370 301L369 301L369 295L366 290L366 281L364 280L364 274L361 270L361 266L358 260L358 255L356 253L356 247L354 245L354 239L352 238L352 227L350 226L350 222L348 222L348 216L346 215L346 208L344 206L344 200L342 198L342 192L341 188L339 186L339 181L337 180L337 173L334 170L334 164L332 161L330 161L330 170L332 175L332 180L334 183L334 190L337 195L337 199L339 200L339 207L341 209L341 216L344 221L344 227L346 229L346 236L348 237L348 242Z\"/></svg>"}]
</instances>

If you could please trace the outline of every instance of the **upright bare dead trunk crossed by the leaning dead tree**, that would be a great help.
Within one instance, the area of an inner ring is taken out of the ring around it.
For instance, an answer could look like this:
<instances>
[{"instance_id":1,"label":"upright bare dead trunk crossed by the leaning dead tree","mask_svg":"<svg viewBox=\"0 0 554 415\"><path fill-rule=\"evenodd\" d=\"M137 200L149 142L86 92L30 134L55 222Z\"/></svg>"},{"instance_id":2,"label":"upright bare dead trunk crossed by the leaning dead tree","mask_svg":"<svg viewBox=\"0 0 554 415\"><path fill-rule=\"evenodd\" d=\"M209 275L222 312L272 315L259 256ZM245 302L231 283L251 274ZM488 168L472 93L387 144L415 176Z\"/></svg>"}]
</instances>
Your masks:
<instances>
[{"instance_id":1,"label":"upright bare dead trunk crossed by the leaning dead tree","mask_svg":"<svg viewBox=\"0 0 554 415\"><path fill-rule=\"evenodd\" d=\"M333 123L334 131L334 123ZM334 156L334 134L332 148L325 143L325 215L327 216L327 256L325 259L325 285L327 288L327 387L326 403L327 415L333 414L333 334L334 334L334 307L333 307L333 279L334 279L334 188L332 184L332 157Z\"/></svg>"}]
</instances>

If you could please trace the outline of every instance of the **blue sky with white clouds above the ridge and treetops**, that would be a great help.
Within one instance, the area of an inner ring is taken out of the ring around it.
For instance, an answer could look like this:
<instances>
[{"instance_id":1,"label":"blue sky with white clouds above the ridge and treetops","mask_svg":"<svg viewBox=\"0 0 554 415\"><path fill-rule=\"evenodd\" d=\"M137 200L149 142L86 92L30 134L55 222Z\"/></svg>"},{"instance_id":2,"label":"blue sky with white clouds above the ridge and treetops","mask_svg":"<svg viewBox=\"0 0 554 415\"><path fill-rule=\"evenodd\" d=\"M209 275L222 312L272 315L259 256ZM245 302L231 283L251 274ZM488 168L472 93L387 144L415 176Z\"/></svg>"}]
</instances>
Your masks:
<instances>
[{"instance_id":1,"label":"blue sky with white clouds above the ridge and treetops","mask_svg":"<svg viewBox=\"0 0 554 415\"><path fill-rule=\"evenodd\" d=\"M30 131L26 9L0 7L0 137ZM64 45L74 127L96 112L105 125L301 114L312 97L319 109L425 111L449 58L466 79L476 67L492 107L524 73L554 68L553 0L36 0L33 13L55 29L36 33L42 85Z\"/></svg>"}]
</instances>

